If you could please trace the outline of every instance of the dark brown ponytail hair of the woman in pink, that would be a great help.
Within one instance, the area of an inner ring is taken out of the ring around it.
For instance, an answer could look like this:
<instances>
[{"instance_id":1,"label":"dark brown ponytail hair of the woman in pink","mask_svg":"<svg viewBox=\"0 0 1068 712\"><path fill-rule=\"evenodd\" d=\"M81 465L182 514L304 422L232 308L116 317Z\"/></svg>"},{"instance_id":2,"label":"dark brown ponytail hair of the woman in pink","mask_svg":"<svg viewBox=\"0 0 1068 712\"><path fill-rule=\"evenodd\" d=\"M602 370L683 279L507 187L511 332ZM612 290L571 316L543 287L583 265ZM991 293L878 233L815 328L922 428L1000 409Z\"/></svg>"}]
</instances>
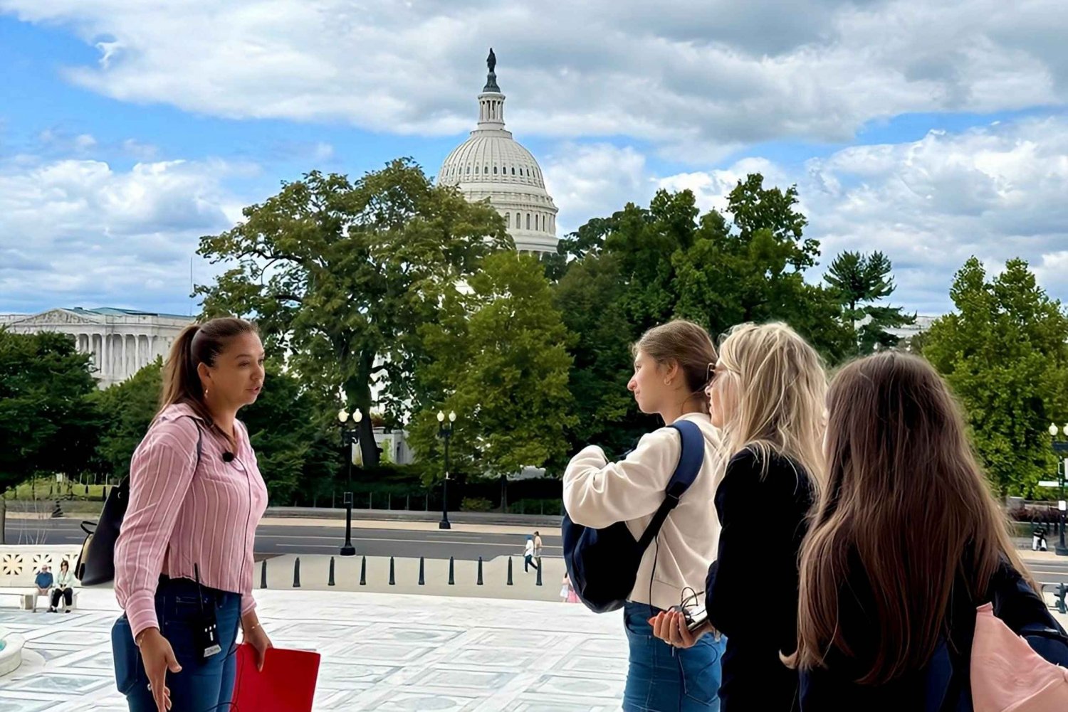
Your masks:
<instances>
[{"instance_id":1,"label":"dark brown ponytail hair of the woman in pink","mask_svg":"<svg viewBox=\"0 0 1068 712\"><path fill-rule=\"evenodd\" d=\"M255 325L236 317L219 317L204 323L191 323L183 329L171 344L171 352L163 364L163 387L156 416L168 406L185 404L211 425L211 413L204 401L204 386L197 367L202 363L214 366L232 338L248 333L257 333ZM223 434L231 439L230 434Z\"/></svg>"}]
</instances>

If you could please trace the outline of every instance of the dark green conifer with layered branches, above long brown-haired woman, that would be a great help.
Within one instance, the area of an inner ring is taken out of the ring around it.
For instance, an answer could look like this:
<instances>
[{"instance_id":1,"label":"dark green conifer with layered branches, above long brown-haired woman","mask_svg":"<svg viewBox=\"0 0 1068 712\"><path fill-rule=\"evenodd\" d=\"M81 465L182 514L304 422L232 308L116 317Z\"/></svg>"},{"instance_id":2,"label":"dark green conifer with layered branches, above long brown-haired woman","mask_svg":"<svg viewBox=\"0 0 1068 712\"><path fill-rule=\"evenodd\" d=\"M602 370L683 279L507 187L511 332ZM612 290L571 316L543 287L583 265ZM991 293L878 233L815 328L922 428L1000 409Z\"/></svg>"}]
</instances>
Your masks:
<instances>
[{"instance_id":1,"label":"dark green conifer with layered branches, above long brown-haired woman","mask_svg":"<svg viewBox=\"0 0 1068 712\"><path fill-rule=\"evenodd\" d=\"M831 289L838 295L845 307L843 323L855 331L857 350L870 353L876 344L895 346L898 337L886 329L915 323L899 306L879 304L894 294L893 265L881 252L869 255L860 252L839 253L823 276Z\"/></svg>"}]
</instances>

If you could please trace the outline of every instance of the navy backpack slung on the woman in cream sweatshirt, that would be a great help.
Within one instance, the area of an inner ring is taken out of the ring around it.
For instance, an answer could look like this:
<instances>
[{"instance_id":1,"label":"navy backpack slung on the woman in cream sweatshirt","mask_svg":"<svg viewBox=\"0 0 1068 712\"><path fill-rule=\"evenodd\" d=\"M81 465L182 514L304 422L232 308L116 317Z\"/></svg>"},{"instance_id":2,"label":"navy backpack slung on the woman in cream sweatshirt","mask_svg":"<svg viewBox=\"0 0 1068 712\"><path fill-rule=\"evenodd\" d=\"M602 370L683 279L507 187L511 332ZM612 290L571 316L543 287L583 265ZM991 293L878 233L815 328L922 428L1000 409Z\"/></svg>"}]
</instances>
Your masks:
<instances>
[{"instance_id":1,"label":"navy backpack slung on the woman in cream sweatshirt","mask_svg":"<svg viewBox=\"0 0 1068 712\"><path fill-rule=\"evenodd\" d=\"M603 529L576 524L565 512L562 525L567 575L579 599L594 613L622 608L638 580L642 556L660 533L664 520L696 479L705 460L705 438L690 421L671 426L682 439L682 454L664 490L664 501L653 516L642 538L634 541L626 522ZM711 505L709 505L711 506Z\"/></svg>"}]
</instances>

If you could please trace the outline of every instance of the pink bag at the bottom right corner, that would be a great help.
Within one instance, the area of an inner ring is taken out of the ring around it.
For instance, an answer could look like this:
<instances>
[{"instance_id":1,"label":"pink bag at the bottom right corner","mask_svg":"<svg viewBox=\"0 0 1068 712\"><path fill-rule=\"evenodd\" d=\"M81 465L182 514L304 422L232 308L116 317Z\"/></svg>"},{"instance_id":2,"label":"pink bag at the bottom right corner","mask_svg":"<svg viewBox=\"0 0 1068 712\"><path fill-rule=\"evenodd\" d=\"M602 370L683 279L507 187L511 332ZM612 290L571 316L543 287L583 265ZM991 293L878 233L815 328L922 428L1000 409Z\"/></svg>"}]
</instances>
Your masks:
<instances>
[{"instance_id":1,"label":"pink bag at the bottom right corner","mask_svg":"<svg viewBox=\"0 0 1068 712\"><path fill-rule=\"evenodd\" d=\"M1035 652L990 603L975 612L971 675L975 712L1068 711L1068 668Z\"/></svg>"}]
</instances>

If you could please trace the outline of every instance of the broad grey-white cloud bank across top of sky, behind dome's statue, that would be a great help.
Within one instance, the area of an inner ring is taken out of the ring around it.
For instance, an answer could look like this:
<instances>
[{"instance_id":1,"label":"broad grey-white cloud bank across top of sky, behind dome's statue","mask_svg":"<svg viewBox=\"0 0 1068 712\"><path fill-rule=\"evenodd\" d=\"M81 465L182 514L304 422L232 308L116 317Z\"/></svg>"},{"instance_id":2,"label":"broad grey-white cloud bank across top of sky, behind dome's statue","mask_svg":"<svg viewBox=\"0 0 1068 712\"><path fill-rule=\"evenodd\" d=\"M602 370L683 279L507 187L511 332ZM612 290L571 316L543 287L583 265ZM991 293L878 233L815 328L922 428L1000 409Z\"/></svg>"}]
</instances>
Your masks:
<instances>
[{"instance_id":1,"label":"broad grey-white cloud bank across top of sky, behind dome's statue","mask_svg":"<svg viewBox=\"0 0 1068 712\"><path fill-rule=\"evenodd\" d=\"M772 139L848 140L906 112L1068 99L1062 0L0 0L97 47L78 84L227 117L389 132L470 124L486 47L523 132L629 136L708 160Z\"/></svg>"}]
</instances>

